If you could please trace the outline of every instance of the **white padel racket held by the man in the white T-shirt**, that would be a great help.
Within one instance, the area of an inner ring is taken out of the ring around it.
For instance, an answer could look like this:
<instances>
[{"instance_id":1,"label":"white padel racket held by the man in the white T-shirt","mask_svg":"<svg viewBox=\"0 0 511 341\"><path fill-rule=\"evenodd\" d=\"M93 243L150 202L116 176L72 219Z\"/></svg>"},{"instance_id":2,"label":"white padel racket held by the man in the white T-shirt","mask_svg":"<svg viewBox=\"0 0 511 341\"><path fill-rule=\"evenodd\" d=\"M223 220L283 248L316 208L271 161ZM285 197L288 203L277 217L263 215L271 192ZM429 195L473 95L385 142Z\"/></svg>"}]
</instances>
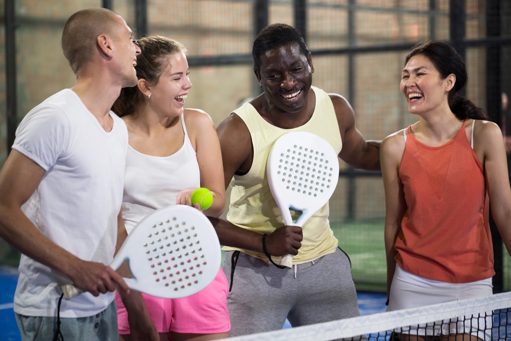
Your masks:
<instances>
[{"instance_id":1,"label":"white padel racket held by the man in the white T-shirt","mask_svg":"<svg viewBox=\"0 0 511 341\"><path fill-rule=\"evenodd\" d=\"M154 211L138 223L110 263L117 270L128 260L131 289L176 299L210 284L220 268L220 242L210 220L197 209L173 205ZM63 285L67 300L82 293Z\"/></svg>"}]
</instances>

